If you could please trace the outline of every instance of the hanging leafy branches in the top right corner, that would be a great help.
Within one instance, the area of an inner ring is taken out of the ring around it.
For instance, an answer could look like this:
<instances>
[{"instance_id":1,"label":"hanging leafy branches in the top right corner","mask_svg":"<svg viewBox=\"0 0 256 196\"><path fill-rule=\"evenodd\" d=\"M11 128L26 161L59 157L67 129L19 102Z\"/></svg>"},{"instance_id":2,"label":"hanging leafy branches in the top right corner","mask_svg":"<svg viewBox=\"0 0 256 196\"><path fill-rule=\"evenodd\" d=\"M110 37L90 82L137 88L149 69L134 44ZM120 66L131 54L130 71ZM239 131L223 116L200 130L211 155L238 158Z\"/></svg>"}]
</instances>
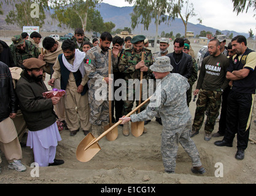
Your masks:
<instances>
[{"instance_id":1,"label":"hanging leafy branches in the top right corner","mask_svg":"<svg viewBox=\"0 0 256 196\"><path fill-rule=\"evenodd\" d=\"M256 1L252 1L252 0L232 0L233 2L233 12L236 12L237 15L239 13L244 12L244 10L246 10L246 13L249 9L249 7L253 7L254 11L256 10ZM254 14L254 17L256 15Z\"/></svg>"}]
</instances>

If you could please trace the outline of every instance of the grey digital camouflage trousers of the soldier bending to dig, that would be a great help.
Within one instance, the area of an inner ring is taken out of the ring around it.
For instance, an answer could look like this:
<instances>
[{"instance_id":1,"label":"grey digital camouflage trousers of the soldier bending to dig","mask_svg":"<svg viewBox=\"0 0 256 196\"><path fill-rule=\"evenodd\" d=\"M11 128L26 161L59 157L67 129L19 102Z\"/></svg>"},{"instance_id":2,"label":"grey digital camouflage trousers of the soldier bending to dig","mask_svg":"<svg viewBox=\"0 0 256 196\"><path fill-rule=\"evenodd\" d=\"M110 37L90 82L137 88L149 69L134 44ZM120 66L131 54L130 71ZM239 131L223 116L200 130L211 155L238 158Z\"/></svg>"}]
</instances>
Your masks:
<instances>
[{"instance_id":1,"label":"grey digital camouflage trousers of the soldier bending to dig","mask_svg":"<svg viewBox=\"0 0 256 196\"><path fill-rule=\"evenodd\" d=\"M176 134L171 135L171 137L162 137L161 154L165 171L175 171L179 143L190 159L192 159L193 167L200 167L202 165L198 149L194 141L190 138L191 128L192 121L190 120L184 126L179 127Z\"/></svg>"}]
</instances>

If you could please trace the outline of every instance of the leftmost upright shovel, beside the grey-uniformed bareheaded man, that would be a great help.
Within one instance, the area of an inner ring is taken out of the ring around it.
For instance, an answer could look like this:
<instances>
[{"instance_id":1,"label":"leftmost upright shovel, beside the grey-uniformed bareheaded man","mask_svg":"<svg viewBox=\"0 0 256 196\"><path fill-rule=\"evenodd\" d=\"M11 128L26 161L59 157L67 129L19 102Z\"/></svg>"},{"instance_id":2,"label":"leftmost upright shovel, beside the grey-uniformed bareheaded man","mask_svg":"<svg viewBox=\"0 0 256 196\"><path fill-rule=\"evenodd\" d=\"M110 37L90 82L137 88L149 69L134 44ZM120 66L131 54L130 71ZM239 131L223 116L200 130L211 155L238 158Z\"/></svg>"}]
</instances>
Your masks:
<instances>
[{"instance_id":1,"label":"leftmost upright shovel, beside the grey-uniformed bareheaded man","mask_svg":"<svg viewBox=\"0 0 256 196\"><path fill-rule=\"evenodd\" d=\"M109 77L111 78L111 50L109 50ZM112 85L109 85L109 124L104 126L104 130L108 130L113 126L112 124ZM114 127L111 132L106 135L107 140L114 141L118 136L118 128Z\"/></svg>"}]
</instances>

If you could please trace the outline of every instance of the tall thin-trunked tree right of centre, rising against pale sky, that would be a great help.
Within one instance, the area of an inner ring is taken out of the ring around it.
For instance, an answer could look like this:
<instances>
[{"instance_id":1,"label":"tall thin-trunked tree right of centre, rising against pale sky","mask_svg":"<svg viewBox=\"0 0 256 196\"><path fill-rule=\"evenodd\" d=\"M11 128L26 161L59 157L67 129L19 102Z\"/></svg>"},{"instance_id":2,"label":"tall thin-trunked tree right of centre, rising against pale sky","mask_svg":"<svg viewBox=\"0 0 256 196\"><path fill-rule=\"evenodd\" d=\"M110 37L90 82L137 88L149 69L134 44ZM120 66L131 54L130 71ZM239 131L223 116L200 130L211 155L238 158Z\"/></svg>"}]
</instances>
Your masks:
<instances>
[{"instance_id":1,"label":"tall thin-trunked tree right of centre, rising against pale sky","mask_svg":"<svg viewBox=\"0 0 256 196\"><path fill-rule=\"evenodd\" d=\"M194 7L193 4L189 4L188 2L189 0L187 0L185 2L185 6L186 6L186 12L185 15L183 16L181 13L182 7L184 7L184 0L176 0L174 7L173 7L173 18L176 17L180 17L184 27L185 27L185 38L187 37L187 24L188 24L188 20L192 17L196 16L196 13L194 12ZM200 18L198 18L199 23L202 23L202 20Z\"/></svg>"}]
</instances>

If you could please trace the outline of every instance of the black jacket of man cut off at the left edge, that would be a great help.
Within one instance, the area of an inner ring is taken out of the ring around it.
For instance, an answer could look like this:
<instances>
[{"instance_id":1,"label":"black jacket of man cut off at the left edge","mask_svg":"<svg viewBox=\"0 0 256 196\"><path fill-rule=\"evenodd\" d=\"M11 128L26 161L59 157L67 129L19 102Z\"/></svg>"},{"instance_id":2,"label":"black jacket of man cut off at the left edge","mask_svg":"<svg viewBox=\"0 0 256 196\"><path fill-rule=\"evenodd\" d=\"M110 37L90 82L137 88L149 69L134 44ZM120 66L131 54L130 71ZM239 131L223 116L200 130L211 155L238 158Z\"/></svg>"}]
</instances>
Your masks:
<instances>
[{"instance_id":1,"label":"black jacket of man cut off at the left edge","mask_svg":"<svg viewBox=\"0 0 256 196\"><path fill-rule=\"evenodd\" d=\"M17 99L9 67L0 61L0 122L17 113Z\"/></svg>"}]
</instances>

